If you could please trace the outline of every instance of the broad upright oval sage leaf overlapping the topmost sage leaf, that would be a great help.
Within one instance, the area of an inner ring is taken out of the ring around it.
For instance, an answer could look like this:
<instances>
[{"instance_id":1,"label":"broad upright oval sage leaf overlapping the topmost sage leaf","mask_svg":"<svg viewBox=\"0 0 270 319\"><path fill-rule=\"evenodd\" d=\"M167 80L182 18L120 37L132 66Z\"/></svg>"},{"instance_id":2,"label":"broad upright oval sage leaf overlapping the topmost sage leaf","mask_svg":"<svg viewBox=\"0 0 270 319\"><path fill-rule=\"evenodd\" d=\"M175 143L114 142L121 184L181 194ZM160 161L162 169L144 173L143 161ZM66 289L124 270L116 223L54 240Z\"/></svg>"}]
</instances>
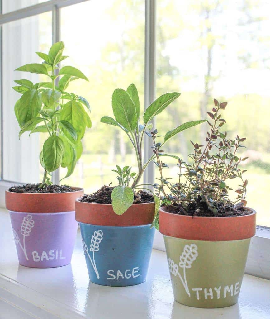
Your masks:
<instances>
[{"instance_id":1,"label":"broad upright oval sage leaf overlapping the topmost sage leaf","mask_svg":"<svg viewBox=\"0 0 270 319\"><path fill-rule=\"evenodd\" d=\"M112 107L116 122L121 124L128 132L134 131L138 122L136 108L125 90L114 90Z\"/></svg>"}]
</instances>

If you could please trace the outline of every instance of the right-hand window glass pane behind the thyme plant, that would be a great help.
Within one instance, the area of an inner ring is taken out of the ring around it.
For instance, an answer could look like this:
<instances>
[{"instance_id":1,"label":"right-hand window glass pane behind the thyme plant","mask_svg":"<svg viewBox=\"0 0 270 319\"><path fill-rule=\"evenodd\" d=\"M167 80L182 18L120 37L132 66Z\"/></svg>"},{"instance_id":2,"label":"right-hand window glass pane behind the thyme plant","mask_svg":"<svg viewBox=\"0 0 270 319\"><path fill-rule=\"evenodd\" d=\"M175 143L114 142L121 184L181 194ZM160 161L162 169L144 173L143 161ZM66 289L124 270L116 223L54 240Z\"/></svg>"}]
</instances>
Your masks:
<instances>
[{"instance_id":1,"label":"right-hand window glass pane behind the thyme plant","mask_svg":"<svg viewBox=\"0 0 270 319\"><path fill-rule=\"evenodd\" d=\"M236 134L247 138L242 151L242 157L249 157L242 165L248 170L246 199L258 212L257 223L265 226L270 226L266 204L270 192L269 11L269 1L257 0L164 0L157 7L157 93L182 93L160 115L164 124L160 133L206 118L214 98L228 101L224 128L233 138ZM186 154L192 152L190 140L205 143L202 129L196 127L171 139L165 152L176 152L187 160ZM168 159L167 163L168 175L176 176L175 162ZM238 181L231 181L237 189Z\"/></svg>"}]
</instances>

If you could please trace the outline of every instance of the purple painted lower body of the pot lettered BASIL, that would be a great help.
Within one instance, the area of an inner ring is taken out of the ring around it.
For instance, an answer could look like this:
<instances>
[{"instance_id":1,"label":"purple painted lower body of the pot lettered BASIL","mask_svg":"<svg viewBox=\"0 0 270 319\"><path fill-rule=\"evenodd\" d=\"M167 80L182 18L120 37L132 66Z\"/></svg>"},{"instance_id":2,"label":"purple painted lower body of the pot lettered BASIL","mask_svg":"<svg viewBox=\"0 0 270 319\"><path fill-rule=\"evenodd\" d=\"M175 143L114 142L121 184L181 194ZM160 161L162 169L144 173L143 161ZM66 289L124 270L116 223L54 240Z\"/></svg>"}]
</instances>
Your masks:
<instances>
[{"instance_id":1,"label":"purple painted lower body of the pot lettered BASIL","mask_svg":"<svg viewBox=\"0 0 270 319\"><path fill-rule=\"evenodd\" d=\"M20 265L51 268L70 263L78 229L74 211L10 211L10 217Z\"/></svg>"}]
</instances>

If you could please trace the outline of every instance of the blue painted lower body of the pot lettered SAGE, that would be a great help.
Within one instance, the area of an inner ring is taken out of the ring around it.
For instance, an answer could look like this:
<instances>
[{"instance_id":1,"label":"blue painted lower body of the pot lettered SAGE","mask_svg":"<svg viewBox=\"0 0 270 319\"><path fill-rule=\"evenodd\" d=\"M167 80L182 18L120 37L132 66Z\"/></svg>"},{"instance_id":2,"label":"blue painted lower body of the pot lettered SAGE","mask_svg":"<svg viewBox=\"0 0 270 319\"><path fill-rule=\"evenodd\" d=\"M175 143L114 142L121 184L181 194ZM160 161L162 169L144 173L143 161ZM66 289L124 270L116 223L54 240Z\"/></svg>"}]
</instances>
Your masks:
<instances>
[{"instance_id":1,"label":"blue painted lower body of the pot lettered SAGE","mask_svg":"<svg viewBox=\"0 0 270 319\"><path fill-rule=\"evenodd\" d=\"M146 280L155 229L79 223L91 282L133 286Z\"/></svg>"}]
</instances>

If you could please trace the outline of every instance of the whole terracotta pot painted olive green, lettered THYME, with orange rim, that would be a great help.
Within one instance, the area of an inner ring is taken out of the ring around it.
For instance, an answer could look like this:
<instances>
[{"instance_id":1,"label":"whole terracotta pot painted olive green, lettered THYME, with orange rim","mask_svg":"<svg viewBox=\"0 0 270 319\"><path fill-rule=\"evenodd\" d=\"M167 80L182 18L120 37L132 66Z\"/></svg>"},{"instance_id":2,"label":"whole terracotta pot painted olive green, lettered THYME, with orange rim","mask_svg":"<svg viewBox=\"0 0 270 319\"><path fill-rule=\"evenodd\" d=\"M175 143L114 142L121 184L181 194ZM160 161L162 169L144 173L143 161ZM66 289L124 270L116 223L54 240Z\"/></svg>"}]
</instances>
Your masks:
<instances>
[{"instance_id":1,"label":"whole terracotta pot painted olive green, lettered THYME, with orange rim","mask_svg":"<svg viewBox=\"0 0 270 319\"><path fill-rule=\"evenodd\" d=\"M256 212L237 217L192 217L159 211L174 298L199 308L237 303Z\"/></svg>"}]
</instances>

